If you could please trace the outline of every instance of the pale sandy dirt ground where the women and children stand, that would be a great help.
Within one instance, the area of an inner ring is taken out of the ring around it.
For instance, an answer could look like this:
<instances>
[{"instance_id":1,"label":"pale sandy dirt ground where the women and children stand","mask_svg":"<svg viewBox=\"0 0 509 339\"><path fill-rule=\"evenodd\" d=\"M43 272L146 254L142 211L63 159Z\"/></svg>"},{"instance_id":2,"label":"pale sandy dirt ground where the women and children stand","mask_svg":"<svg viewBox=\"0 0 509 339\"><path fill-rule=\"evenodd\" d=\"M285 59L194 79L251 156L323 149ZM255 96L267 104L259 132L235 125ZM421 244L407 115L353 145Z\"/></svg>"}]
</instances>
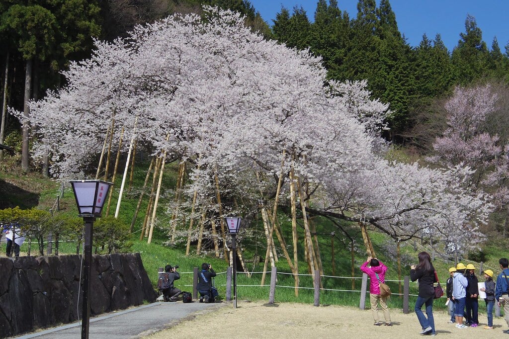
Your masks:
<instances>
[{"instance_id":1,"label":"pale sandy dirt ground where the women and children stand","mask_svg":"<svg viewBox=\"0 0 509 339\"><path fill-rule=\"evenodd\" d=\"M415 313L403 314L391 309L392 327L373 326L371 310L346 306L313 306L310 304L239 300L237 308L231 302L223 307L192 315L167 330L148 336L156 338L422 338ZM503 318L494 317L493 330L485 330L486 315L479 314L479 327L458 329L448 324L449 316L441 310L433 313L437 336L447 338L486 337L509 338ZM380 317L383 317L380 312ZM383 318L382 318L383 319ZM374 332L377 332L375 334ZM429 337L429 336L426 336Z\"/></svg>"}]
</instances>

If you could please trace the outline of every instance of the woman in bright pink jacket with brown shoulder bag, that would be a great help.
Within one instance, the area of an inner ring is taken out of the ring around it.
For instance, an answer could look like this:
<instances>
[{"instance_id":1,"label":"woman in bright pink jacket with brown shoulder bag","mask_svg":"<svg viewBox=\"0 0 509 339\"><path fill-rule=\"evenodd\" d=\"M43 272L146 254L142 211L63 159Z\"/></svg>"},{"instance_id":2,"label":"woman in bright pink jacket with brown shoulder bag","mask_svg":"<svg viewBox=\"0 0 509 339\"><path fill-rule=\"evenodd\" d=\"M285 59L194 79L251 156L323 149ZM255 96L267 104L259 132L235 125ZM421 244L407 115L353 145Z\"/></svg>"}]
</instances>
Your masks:
<instances>
[{"instance_id":1,"label":"woman in bright pink jacket with brown shoulder bag","mask_svg":"<svg viewBox=\"0 0 509 339\"><path fill-rule=\"evenodd\" d=\"M385 272L387 272L387 266L382 264L376 258L367 257L367 261L364 264L362 264L360 270L369 275L371 280L370 301L371 309L373 310L373 318L375 319L374 325L375 326L382 325L378 317L378 303L380 303L380 307L382 307L383 316L385 318L385 326L392 326L390 322L389 307L387 307L387 298L382 298L380 296L380 286L379 286L380 283L385 283Z\"/></svg>"}]
</instances>

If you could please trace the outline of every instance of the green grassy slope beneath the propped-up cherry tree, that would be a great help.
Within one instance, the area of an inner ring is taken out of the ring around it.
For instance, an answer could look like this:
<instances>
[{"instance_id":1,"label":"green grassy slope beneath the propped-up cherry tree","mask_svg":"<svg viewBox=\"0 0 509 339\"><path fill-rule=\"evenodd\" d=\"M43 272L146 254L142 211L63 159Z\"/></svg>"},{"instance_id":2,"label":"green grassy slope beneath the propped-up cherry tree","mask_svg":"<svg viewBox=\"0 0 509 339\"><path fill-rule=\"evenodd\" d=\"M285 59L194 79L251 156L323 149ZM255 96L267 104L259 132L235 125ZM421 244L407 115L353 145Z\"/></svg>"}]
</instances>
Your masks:
<instances>
[{"instance_id":1,"label":"green grassy slope beneath the propped-up cherry tree","mask_svg":"<svg viewBox=\"0 0 509 339\"><path fill-rule=\"evenodd\" d=\"M170 164L166 166L165 175L163 178L163 186L168 189L169 193L173 192L172 187L175 186L175 171L176 164ZM128 189L126 184L126 195L122 200L122 205L120 209L119 218L121 218L126 223L130 224L131 218L136 207L138 201L139 189L143 186L143 182L145 180L146 170L148 164L142 164L139 167L136 167L134 172L134 185L131 190ZM169 171L168 171L169 170ZM14 203L18 202L26 202L33 201L33 196L37 196L37 203L39 208L49 209L55 200L56 194L60 188L60 184L56 183L52 180L45 179L39 175L29 174L22 175L18 173L1 173L0 172L0 183L5 183L6 185L11 185L17 187L19 189L11 189L5 191L6 200ZM112 202L110 207L110 214L115 213L116 204L118 200L118 191L120 189L121 177L117 177L114 195L112 196ZM149 183L150 184L150 183ZM11 187L9 186L9 187ZM23 194L25 194L25 198L23 198ZM173 193L172 193L173 194ZM172 199L172 194L164 194L159 201L159 217L164 218L162 211L164 210L163 206ZM32 200L29 200L28 197L31 197ZM147 240L139 241L139 231L137 231L140 225L143 223L143 218L145 216L147 202L144 200L142 204L142 209L136 219L135 224L135 232L132 234L133 247L132 251L140 252L142 254L142 259L144 262L144 266L151 278L154 286L155 281L157 279L157 268L163 267L165 264L171 265L179 265L180 272L183 272L182 279L179 281L177 286L182 290L190 290L189 285L192 283L192 268L200 267L201 263L206 261L212 264L217 272L224 272L226 270L225 262L221 259L213 258L212 256L196 256L190 255L185 256L185 243L177 244L176 247L169 247L164 244L167 240L167 236L163 230L156 229L154 232L153 241L151 244L147 243ZM31 206L27 206L26 204L20 204L21 207L29 208ZM74 205L74 197L72 195L71 190L68 188L65 192L64 199L61 201L61 213L69 213L76 214L76 207ZM280 220L286 220L282 224L282 230L285 233L285 238L289 243L291 240L291 227L287 218L280 218ZM343 240L344 235L340 234L333 225L330 223L316 219L317 225L317 233L319 235L320 242L320 251L322 255L322 262L324 264L324 273L325 275L336 275L336 276L345 276L348 277L351 275L351 253L350 253L350 244L348 240ZM186 225L183 226L187 227ZM349 234L354 237L356 243L356 253L355 253L355 275L360 276L359 266L365 260L365 255L363 255L363 242L360 236L360 231L355 228L348 228L348 225L345 226L349 230ZM254 238L244 239L241 243L241 246L244 250L244 257L246 260L252 259L256 255L260 255L262 257L265 256L265 249L263 248L263 228L259 223L254 226ZM332 253L331 253L331 232L335 232L337 237L334 237L334 263L335 263L335 274L332 274ZM398 279L398 270L397 263L395 260L395 255L391 250L388 250L389 247L393 247L393 243L387 241L384 235L372 232L371 233L373 243L375 245L375 250L377 252L377 256L380 260L382 260L387 266L389 266L388 271L388 279L397 280ZM299 239L303 239L302 234L299 235ZM496 239L496 238L495 238ZM277 240L276 240L277 242ZM507 257L508 253L505 247L500 247L496 242L489 241L483 250L486 253L487 261L484 264L485 267L491 268L496 272L498 268L498 259L502 256ZM26 247L26 245L23 245ZM191 253L195 253L195 245L191 247ZM420 245L417 248L417 252L414 252L413 244L403 244L402 245L402 257L404 258L403 267L402 267L402 275L409 274L409 264L416 262L416 254L418 251L426 249L425 247L421 247ZM22 248L23 251L24 248ZM501 251L502 249L502 251ZM25 249L26 250L26 249ZM292 249L289 248L291 251ZM76 245L75 244L63 244L61 248L61 253L75 253ZM299 248L300 253L303 253L303 249ZM299 271L302 274L307 274L307 265L303 261L303 258L299 258ZM467 263L467 262L465 262ZM440 258L436 258L434 262L435 268L439 273L440 280L443 283L443 287L445 287L445 280L448 277L447 269L453 265L451 262L446 262L441 260ZM278 267L278 272L290 273L289 266L282 256L282 253L279 251L279 262L276 265ZM477 265L476 265L477 266ZM256 272L260 272L263 270L263 261L257 267L253 267L252 263L248 263L248 268L250 270L254 270ZM300 277L300 286L312 286L312 278L310 276L301 276ZM483 280L481 277L479 280ZM240 299L259 299L264 300L268 298L268 287L244 287L241 285L260 285L261 274L255 273L250 278L240 275L238 278L238 294ZM268 285L270 281L270 275L267 276L265 284ZM225 284L225 274L219 274L216 278L216 286L219 287L219 292L221 295L224 295L224 285ZM352 280L351 279L338 279L331 277L323 278L324 287L327 289L333 290L352 290ZM277 285L279 286L294 286L294 279L289 274L278 274ZM393 293L398 293L398 284L394 282L390 282L389 286ZM415 288L411 284L411 293L415 293ZM355 290L360 289L360 280L355 280ZM299 290L299 297L295 297L293 288L279 288L276 293L276 300L278 301L299 301L299 302L313 302L313 290L301 289ZM358 305L359 293L343 293L338 291L323 291L321 296L322 303L339 303L346 305ZM402 301L398 297L392 297L390 301L391 307L401 307ZM483 302L480 302L479 305L481 307L484 306Z\"/></svg>"}]
</instances>

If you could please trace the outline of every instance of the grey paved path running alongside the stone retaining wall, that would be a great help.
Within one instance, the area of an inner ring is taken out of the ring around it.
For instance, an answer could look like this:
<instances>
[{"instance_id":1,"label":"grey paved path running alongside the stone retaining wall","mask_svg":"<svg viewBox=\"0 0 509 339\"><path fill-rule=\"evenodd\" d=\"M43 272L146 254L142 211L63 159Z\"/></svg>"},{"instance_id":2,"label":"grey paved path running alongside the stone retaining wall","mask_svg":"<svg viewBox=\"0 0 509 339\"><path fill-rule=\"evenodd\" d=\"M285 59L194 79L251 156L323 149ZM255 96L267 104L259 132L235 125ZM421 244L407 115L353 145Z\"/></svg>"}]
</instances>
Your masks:
<instances>
[{"instance_id":1,"label":"grey paved path running alongside the stone retaining wall","mask_svg":"<svg viewBox=\"0 0 509 339\"><path fill-rule=\"evenodd\" d=\"M140 338L176 324L192 314L203 313L230 303L155 302L90 319L90 338ZM25 334L17 338L79 338L81 322Z\"/></svg>"}]
</instances>

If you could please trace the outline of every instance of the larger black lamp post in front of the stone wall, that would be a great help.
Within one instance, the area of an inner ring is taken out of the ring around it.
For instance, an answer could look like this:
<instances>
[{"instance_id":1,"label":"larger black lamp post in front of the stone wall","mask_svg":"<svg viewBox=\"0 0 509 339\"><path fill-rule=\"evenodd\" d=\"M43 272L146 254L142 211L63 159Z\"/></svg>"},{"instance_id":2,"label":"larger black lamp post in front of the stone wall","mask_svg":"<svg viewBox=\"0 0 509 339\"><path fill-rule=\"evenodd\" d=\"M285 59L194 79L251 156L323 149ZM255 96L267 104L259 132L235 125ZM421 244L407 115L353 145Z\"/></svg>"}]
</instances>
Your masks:
<instances>
[{"instance_id":1,"label":"larger black lamp post in front of the stone wall","mask_svg":"<svg viewBox=\"0 0 509 339\"><path fill-rule=\"evenodd\" d=\"M78 216L84 222L84 243L83 243L83 308L81 312L81 338L89 337L90 319L90 275L92 264L92 235L94 231L94 220L101 217L102 206L108 194L109 187L113 184L102 180L69 180L72 185Z\"/></svg>"}]
</instances>

